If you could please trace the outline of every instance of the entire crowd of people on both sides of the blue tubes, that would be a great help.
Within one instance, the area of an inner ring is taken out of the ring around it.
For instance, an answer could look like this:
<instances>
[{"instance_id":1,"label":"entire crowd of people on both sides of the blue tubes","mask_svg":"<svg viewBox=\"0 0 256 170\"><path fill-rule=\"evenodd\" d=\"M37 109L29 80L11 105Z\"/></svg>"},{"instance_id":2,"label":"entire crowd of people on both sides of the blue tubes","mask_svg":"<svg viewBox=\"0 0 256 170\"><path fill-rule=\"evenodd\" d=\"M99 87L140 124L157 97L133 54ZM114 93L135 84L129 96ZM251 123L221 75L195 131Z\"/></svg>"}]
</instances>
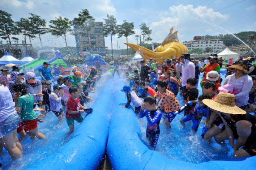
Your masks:
<instances>
[{"instance_id":1,"label":"entire crowd of people on both sides of the blue tubes","mask_svg":"<svg viewBox=\"0 0 256 170\"><path fill-rule=\"evenodd\" d=\"M196 132L202 121L204 128L202 136L210 141L212 137L216 142L224 142L234 148L234 157L256 155L256 108L254 99L256 93L256 71L254 57L229 61L226 65L226 78L222 80L220 69L222 58L211 54L201 65L200 61L192 60L189 53L173 59L163 59L162 63L155 60L140 61L128 65L124 77L129 80L121 91L126 93L127 108L132 103L138 117L146 117L146 137L150 147L156 148L160 135L160 121L166 128L177 114L183 114L181 125L186 126L192 121L192 131ZM42 117L54 113L60 123L66 119L69 131L74 132L74 121L81 123L92 113L85 104L93 101L89 93L94 93L95 81L101 76L102 69L97 63L96 67L88 69L86 61L82 70L73 66L70 75L63 77L63 70L54 65L54 73L44 62L38 72L42 80L36 78L34 70L28 71L23 67L14 66L9 81L8 69L1 69L0 75L0 144L11 158L22 156L22 141L26 134L34 140L44 139L47 136L40 133L37 123L42 123ZM110 63L114 73L119 73L117 60ZM202 81L199 81L202 73ZM57 84L52 84L53 80ZM96 78L97 77L97 78ZM224 81L221 86L222 81ZM52 87L53 85L53 87ZM202 87L199 95L198 86ZM182 101L176 96L180 93ZM36 111L40 111L38 115ZM251 115L249 113L253 113ZM86 113L82 117L82 113ZM19 138L17 136L19 134ZM236 141L236 142L235 142Z\"/></svg>"}]
</instances>

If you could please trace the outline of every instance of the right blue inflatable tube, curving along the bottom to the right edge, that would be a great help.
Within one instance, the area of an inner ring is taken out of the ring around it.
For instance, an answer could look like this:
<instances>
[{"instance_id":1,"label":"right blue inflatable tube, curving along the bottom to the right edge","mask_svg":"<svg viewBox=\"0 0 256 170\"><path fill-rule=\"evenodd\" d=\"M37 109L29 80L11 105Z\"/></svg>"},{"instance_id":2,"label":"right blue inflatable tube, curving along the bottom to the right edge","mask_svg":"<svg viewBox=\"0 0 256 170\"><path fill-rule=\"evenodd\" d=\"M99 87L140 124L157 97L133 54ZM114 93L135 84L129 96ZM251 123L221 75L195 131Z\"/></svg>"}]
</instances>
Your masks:
<instances>
[{"instance_id":1,"label":"right blue inflatable tube, curving along the bottom to the right edge","mask_svg":"<svg viewBox=\"0 0 256 170\"><path fill-rule=\"evenodd\" d=\"M114 170L255 170L256 156L193 164L164 157L150 150L142 140L137 118L132 109L120 107L123 82L116 83L114 106L108 132L107 153Z\"/></svg>"}]
</instances>

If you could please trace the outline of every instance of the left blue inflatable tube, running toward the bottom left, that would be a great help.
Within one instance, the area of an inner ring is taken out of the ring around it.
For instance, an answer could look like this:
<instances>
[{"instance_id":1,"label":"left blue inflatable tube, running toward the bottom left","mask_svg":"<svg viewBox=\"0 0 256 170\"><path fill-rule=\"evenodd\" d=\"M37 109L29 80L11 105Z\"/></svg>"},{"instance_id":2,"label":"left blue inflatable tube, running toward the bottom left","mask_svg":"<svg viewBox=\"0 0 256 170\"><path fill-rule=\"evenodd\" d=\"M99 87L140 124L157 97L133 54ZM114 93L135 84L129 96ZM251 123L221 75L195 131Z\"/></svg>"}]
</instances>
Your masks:
<instances>
[{"instance_id":1,"label":"left blue inflatable tube, running toward the bottom left","mask_svg":"<svg viewBox=\"0 0 256 170\"><path fill-rule=\"evenodd\" d=\"M82 121L74 137L30 170L96 169L106 148L113 91L114 83L108 81L94 102L93 112Z\"/></svg>"}]
</instances>

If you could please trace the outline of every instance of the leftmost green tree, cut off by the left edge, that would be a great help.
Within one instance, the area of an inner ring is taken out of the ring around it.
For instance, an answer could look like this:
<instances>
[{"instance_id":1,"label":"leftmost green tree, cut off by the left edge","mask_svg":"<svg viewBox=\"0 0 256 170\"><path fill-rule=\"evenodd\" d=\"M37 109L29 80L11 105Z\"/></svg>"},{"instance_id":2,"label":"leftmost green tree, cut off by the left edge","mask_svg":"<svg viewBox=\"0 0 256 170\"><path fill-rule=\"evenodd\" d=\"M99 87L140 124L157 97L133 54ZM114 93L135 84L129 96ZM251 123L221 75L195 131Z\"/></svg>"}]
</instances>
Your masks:
<instances>
[{"instance_id":1,"label":"leftmost green tree, cut off by the left edge","mask_svg":"<svg viewBox=\"0 0 256 170\"><path fill-rule=\"evenodd\" d=\"M11 14L3 10L0 10L0 37L4 40L8 39L12 47L12 41L10 36L19 35L21 31L16 27L11 16L12 16ZM16 37L12 37L12 39L19 40ZM15 53L13 49L12 49L12 53L15 57Z\"/></svg>"}]
</instances>

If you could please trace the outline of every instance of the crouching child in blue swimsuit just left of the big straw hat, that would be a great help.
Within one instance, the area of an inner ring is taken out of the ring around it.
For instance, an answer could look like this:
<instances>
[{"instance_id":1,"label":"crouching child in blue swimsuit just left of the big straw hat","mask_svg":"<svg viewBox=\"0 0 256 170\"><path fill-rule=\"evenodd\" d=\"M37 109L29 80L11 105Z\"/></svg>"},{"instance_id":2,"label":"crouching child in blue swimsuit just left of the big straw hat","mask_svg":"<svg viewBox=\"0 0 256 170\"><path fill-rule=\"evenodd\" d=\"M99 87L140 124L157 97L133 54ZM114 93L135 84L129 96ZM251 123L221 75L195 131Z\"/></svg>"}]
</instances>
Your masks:
<instances>
[{"instance_id":1,"label":"crouching child in blue swimsuit just left of the big straw hat","mask_svg":"<svg viewBox=\"0 0 256 170\"><path fill-rule=\"evenodd\" d=\"M198 101L196 102L196 106L190 112L190 114L182 117L180 119L180 123L185 127L185 122L192 120L193 126L192 131L196 132L199 124L202 120L202 117L205 116L207 119L210 119L210 109L202 102L204 99L209 99L206 95L200 95L198 97Z\"/></svg>"}]
</instances>

